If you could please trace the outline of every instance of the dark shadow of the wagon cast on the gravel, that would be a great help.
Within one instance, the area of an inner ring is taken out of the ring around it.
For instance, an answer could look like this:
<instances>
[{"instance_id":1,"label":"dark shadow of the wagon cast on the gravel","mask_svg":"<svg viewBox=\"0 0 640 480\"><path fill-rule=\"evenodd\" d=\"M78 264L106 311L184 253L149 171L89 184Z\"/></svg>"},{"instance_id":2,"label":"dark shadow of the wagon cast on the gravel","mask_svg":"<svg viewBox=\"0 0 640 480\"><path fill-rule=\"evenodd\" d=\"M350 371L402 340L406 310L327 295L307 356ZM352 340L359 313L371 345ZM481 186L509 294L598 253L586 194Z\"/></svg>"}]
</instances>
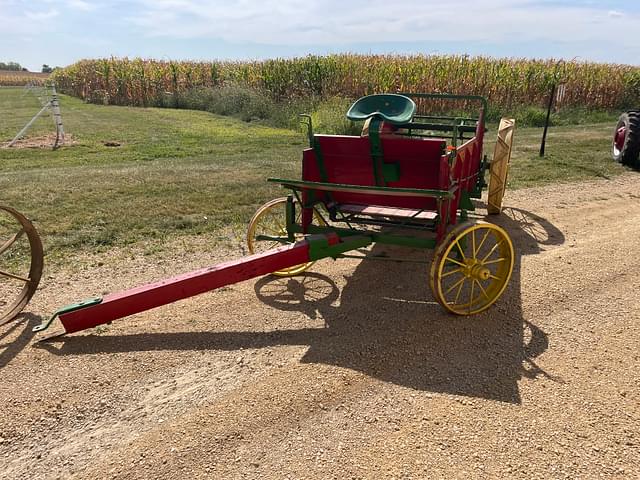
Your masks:
<instances>
[{"instance_id":1,"label":"dark shadow of the wagon cast on the gravel","mask_svg":"<svg viewBox=\"0 0 640 480\"><path fill-rule=\"evenodd\" d=\"M521 292L526 286L521 285L521 259L564 243L564 235L544 218L517 208L506 208L489 220L511 235L516 261L504 295L488 311L472 317L452 316L435 302L428 287L428 264L368 260L357 265L341 291L329 277L315 272L256 282L262 302L322 318L325 328L86 335L38 347L77 355L309 345L305 363L349 368L417 390L518 404L518 380L549 376L535 363L548 347L547 335L523 318ZM406 258L411 252L376 245L367 254ZM416 251L413 259L430 261L431 254Z\"/></svg>"}]
</instances>

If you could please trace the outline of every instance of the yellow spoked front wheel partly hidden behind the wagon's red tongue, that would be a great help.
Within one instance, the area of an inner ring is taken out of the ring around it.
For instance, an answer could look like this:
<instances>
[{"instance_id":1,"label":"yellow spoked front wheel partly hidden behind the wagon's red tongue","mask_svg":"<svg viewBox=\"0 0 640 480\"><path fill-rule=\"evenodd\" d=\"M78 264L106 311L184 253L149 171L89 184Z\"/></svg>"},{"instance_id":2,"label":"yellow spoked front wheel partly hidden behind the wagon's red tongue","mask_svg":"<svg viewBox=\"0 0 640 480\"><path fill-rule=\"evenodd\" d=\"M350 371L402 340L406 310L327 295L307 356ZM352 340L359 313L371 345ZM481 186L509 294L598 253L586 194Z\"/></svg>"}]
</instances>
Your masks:
<instances>
[{"instance_id":1,"label":"yellow spoked front wheel partly hidden behind the wagon's red tongue","mask_svg":"<svg viewBox=\"0 0 640 480\"><path fill-rule=\"evenodd\" d=\"M296 207L299 205L296 202ZM320 214L314 210L314 220L324 225L325 222ZM302 209L296 208L296 223L300 223ZM279 247L286 243L287 237L287 197L276 198L261 206L249 222L247 230L247 245L250 253L261 253L272 248ZM269 237L263 240L260 237ZM296 235L296 241L304 238L303 235ZM277 240L276 240L277 239ZM314 262L301 263L289 268L283 268L273 272L279 277L291 277L307 270Z\"/></svg>"}]
</instances>

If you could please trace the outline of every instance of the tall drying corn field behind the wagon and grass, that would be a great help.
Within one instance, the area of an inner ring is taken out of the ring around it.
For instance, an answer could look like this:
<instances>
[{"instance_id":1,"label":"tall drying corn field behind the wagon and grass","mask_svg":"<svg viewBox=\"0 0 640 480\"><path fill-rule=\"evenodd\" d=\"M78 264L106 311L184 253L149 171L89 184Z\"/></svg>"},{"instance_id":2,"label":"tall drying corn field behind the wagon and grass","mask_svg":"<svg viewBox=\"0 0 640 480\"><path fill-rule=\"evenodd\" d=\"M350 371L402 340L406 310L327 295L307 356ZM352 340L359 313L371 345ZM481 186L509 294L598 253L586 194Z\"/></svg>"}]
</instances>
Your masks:
<instances>
[{"instance_id":1,"label":"tall drying corn field behind the wagon and grass","mask_svg":"<svg viewBox=\"0 0 640 480\"><path fill-rule=\"evenodd\" d=\"M612 109L640 104L640 67L466 55L307 56L264 61L82 60L54 73L58 87L91 102L153 106L195 87L240 84L275 100L313 95L358 98L380 92L447 92L488 97L509 109L543 106L553 82L563 106Z\"/></svg>"}]
</instances>

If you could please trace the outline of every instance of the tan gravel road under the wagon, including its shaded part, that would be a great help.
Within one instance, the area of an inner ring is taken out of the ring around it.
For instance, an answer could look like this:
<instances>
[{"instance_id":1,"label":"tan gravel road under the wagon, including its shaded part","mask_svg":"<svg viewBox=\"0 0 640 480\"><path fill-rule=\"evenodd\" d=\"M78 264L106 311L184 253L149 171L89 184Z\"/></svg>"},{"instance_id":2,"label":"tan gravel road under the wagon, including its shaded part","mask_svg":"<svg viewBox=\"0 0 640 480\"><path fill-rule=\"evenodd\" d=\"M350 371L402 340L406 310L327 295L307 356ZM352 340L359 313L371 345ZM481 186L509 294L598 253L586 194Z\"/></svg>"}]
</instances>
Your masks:
<instances>
[{"instance_id":1,"label":"tan gravel road under the wagon, including its shaded part","mask_svg":"<svg viewBox=\"0 0 640 480\"><path fill-rule=\"evenodd\" d=\"M0 329L0 478L640 478L640 177L506 204L514 275L473 318L424 264L340 260L37 343L60 305L229 252L70 258Z\"/></svg>"}]
</instances>

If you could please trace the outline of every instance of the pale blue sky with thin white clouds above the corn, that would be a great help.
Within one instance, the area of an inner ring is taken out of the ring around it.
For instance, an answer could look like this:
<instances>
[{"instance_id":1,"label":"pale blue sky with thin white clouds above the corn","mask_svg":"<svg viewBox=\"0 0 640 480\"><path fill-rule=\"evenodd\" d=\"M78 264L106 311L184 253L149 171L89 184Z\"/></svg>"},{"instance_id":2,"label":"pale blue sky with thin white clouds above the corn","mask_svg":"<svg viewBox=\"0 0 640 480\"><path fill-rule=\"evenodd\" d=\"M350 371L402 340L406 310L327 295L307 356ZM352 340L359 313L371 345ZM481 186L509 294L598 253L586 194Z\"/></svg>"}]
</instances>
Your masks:
<instances>
[{"instance_id":1,"label":"pale blue sky with thin white clouds above the corn","mask_svg":"<svg viewBox=\"0 0 640 480\"><path fill-rule=\"evenodd\" d=\"M640 0L0 0L0 61L469 54L640 65Z\"/></svg>"}]
</instances>

